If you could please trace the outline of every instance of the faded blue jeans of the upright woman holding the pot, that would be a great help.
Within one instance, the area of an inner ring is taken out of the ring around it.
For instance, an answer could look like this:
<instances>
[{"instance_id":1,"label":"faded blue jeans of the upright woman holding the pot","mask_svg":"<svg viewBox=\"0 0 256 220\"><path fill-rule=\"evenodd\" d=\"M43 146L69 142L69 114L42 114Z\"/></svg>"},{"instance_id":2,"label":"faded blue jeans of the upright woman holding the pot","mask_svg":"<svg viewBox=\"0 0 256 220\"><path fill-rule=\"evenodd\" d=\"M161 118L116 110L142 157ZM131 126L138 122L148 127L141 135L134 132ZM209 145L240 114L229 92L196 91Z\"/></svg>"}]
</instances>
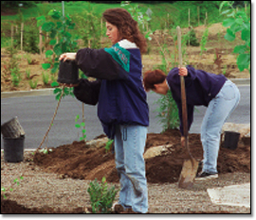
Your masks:
<instances>
[{"instance_id":1,"label":"faded blue jeans of the upright woman holding the pot","mask_svg":"<svg viewBox=\"0 0 256 220\"><path fill-rule=\"evenodd\" d=\"M115 158L119 173L119 204L134 212L148 212L148 188L143 153L147 127L118 125Z\"/></svg>"}]
</instances>

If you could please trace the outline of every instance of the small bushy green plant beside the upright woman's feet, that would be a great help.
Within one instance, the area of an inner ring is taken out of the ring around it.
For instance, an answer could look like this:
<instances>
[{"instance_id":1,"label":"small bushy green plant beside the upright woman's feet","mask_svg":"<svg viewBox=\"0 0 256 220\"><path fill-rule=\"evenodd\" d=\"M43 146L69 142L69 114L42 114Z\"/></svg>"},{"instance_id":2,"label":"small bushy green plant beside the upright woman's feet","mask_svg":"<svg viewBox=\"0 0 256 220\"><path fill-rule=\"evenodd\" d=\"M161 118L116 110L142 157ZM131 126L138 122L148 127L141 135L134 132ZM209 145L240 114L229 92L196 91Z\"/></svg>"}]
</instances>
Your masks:
<instances>
[{"instance_id":1,"label":"small bushy green plant beside the upright woman's feet","mask_svg":"<svg viewBox=\"0 0 256 220\"><path fill-rule=\"evenodd\" d=\"M103 177L101 183L97 181L97 178L91 181L87 192L90 195L93 213L110 213L119 190L116 190L115 186L108 188L106 178Z\"/></svg>"}]
</instances>

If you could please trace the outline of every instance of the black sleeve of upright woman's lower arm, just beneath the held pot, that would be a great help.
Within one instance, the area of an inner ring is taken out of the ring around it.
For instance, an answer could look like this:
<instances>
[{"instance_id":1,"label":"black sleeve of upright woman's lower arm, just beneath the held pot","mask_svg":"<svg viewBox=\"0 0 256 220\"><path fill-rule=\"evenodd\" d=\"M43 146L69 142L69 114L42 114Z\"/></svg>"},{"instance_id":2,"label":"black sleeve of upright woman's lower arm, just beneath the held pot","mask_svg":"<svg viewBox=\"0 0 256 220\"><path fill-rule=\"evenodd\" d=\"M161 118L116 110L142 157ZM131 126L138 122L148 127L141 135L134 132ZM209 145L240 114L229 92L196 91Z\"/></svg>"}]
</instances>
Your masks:
<instances>
[{"instance_id":1,"label":"black sleeve of upright woman's lower arm, just beneath the held pot","mask_svg":"<svg viewBox=\"0 0 256 220\"><path fill-rule=\"evenodd\" d=\"M74 87L74 94L81 102L95 106L99 101L101 80L89 81L81 78L77 87Z\"/></svg>"}]
</instances>

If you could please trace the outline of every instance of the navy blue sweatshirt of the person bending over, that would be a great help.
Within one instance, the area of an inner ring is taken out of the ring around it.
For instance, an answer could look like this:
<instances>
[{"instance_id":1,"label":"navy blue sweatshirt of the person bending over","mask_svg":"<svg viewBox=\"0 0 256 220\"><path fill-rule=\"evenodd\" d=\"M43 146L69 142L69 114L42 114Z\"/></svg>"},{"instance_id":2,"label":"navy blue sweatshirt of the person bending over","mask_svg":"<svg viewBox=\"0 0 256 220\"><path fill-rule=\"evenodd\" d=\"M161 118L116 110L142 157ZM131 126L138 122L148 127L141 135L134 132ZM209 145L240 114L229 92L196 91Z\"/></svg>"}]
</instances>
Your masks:
<instances>
[{"instance_id":1,"label":"navy blue sweatshirt of the person bending over","mask_svg":"<svg viewBox=\"0 0 256 220\"><path fill-rule=\"evenodd\" d=\"M188 131L192 126L194 106L208 107L217 93L220 92L227 78L223 75L215 75L207 73L203 70L195 70L192 66L187 66L188 76L185 76L185 88L188 111ZM180 132L183 135L182 124L182 103L181 103L181 88L180 76L178 68L172 69L167 76L167 83L173 93L174 101L177 104Z\"/></svg>"}]
</instances>

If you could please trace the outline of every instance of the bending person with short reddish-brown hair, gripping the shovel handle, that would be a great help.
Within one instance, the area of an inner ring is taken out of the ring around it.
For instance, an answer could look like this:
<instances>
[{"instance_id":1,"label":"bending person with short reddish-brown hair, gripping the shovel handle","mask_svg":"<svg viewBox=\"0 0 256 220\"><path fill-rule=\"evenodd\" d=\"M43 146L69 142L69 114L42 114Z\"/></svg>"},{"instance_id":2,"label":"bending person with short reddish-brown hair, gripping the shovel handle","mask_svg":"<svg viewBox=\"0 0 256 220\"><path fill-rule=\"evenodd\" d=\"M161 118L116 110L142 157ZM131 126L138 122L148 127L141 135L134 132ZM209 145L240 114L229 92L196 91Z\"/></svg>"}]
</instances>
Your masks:
<instances>
[{"instance_id":1,"label":"bending person with short reddish-brown hair, gripping the shovel handle","mask_svg":"<svg viewBox=\"0 0 256 220\"><path fill-rule=\"evenodd\" d=\"M204 150L203 169L195 178L205 180L218 178L217 159L220 145L221 129L231 112L237 107L240 92L236 85L224 75L215 75L203 70L195 70L192 66L174 68L168 76L162 71L148 71L144 74L146 91L166 94L172 91L180 118L181 144L185 144L182 125L182 103L180 76L184 76L188 130L192 126L194 106L206 106L207 110L201 126L201 142Z\"/></svg>"}]
</instances>

